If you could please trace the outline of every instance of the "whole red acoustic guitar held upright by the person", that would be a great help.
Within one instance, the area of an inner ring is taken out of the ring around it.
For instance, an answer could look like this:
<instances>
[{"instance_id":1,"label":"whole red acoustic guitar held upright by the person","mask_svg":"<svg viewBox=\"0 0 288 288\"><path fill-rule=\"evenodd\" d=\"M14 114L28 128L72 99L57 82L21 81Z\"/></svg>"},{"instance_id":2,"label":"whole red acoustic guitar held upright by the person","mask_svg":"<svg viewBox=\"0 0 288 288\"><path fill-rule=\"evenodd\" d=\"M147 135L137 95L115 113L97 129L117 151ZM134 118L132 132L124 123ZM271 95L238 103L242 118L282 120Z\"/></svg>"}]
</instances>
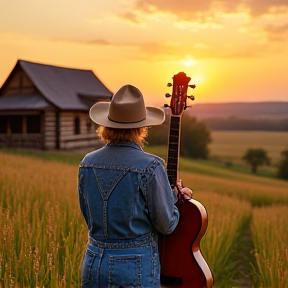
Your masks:
<instances>
[{"instance_id":1,"label":"whole red acoustic guitar held upright by the person","mask_svg":"<svg viewBox=\"0 0 288 288\"><path fill-rule=\"evenodd\" d=\"M171 121L168 143L167 174L171 187L177 186L180 147L181 116L187 108L186 100L191 78L184 72L173 77L171 97ZM161 263L161 287L211 288L213 276L200 250L200 241L206 232L208 215L205 207L195 199L186 200L178 193L176 206L180 220L169 235L159 234L159 254Z\"/></svg>"}]
</instances>

